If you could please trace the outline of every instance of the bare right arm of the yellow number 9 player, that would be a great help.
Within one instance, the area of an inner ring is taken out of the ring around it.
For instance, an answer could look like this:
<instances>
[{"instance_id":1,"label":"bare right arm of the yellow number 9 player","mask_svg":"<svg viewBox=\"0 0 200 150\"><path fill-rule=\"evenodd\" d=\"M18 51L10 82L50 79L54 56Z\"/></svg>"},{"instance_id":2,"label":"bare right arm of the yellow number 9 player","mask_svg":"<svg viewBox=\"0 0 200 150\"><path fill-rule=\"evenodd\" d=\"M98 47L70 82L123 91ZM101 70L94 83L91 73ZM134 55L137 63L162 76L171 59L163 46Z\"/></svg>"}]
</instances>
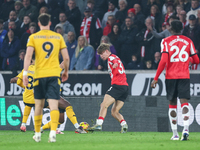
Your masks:
<instances>
[{"instance_id":1,"label":"bare right arm of the yellow number 9 player","mask_svg":"<svg viewBox=\"0 0 200 150\"><path fill-rule=\"evenodd\" d=\"M62 82L66 81L68 79L68 70L69 70L69 54L68 54L68 51L67 51L67 48L64 48L61 50L61 54L62 54L62 57L63 57L63 65L64 65L64 71L62 73Z\"/></svg>"}]
</instances>

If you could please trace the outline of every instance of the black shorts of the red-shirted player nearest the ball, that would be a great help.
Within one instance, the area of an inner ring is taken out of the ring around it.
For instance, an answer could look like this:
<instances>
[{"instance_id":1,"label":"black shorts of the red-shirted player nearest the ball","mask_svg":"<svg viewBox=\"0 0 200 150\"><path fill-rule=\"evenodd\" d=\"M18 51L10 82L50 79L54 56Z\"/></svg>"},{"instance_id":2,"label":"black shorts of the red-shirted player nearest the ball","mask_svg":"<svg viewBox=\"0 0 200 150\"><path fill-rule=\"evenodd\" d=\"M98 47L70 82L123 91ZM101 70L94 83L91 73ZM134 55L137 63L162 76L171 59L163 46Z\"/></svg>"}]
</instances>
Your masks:
<instances>
[{"instance_id":1,"label":"black shorts of the red-shirted player nearest the ball","mask_svg":"<svg viewBox=\"0 0 200 150\"><path fill-rule=\"evenodd\" d=\"M128 96L128 86L113 84L106 94L112 96L115 100L125 101Z\"/></svg>"}]
</instances>

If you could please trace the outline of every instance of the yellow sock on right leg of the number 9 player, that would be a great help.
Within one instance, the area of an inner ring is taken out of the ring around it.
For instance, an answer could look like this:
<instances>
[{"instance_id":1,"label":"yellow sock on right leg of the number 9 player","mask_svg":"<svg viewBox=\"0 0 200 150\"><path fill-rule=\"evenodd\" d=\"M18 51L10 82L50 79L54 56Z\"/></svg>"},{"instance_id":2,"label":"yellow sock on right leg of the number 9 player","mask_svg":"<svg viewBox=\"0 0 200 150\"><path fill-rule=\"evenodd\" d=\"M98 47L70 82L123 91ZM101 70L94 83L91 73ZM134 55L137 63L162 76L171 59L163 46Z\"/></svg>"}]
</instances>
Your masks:
<instances>
[{"instance_id":1,"label":"yellow sock on right leg of the number 9 player","mask_svg":"<svg viewBox=\"0 0 200 150\"><path fill-rule=\"evenodd\" d=\"M51 130L56 131L58 127L60 112L58 110L52 110L50 112L50 116L51 116Z\"/></svg>"}]
</instances>

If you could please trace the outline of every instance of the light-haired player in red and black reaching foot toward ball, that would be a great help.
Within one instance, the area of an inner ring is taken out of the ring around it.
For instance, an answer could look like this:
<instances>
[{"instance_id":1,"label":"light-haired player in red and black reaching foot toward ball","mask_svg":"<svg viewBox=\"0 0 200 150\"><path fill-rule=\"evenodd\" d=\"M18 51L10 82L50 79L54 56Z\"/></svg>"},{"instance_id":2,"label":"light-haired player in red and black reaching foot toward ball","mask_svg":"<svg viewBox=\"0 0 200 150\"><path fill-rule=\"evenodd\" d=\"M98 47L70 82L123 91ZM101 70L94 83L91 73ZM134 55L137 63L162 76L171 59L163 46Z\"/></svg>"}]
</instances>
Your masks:
<instances>
[{"instance_id":1,"label":"light-haired player in red and black reaching foot toward ball","mask_svg":"<svg viewBox=\"0 0 200 150\"><path fill-rule=\"evenodd\" d=\"M128 125L124 120L124 117L119 113L119 110L123 107L124 101L128 96L128 83L124 66L119 57L111 54L109 44L102 43L97 48L97 53L103 60L108 60L108 71L111 77L111 87L106 92L104 100L101 103L99 118L97 119L96 124L87 130L102 130L102 124L104 118L106 117L107 109L111 104L113 104L111 114L117 121L120 122L121 133L126 133L128 130Z\"/></svg>"}]
</instances>

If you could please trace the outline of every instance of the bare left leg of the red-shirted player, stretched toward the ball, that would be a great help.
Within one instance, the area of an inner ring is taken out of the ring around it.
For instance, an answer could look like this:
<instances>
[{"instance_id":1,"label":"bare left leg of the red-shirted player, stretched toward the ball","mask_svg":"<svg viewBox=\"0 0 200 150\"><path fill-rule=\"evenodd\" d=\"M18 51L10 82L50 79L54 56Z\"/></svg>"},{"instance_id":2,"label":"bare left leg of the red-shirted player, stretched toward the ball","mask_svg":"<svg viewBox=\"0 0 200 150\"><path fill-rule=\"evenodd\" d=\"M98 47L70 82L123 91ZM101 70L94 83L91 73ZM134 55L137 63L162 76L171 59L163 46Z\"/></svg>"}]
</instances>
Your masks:
<instances>
[{"instance_id":1,"label":"bare left leg of the red-shirted player, stretched toward the ball","mask_svg":"<svg viewBox=\"0 0 200 150\"><path fill-rule=\"evenodd\" d=\"M101 103L101 106L100 106L99 118L96 120L96 124L94 126L89 127L87 129L88 131L100 131L100 130L102 130L102 124L103 124L104 118L106 117L107 109L114 102L115 102L115 99L112 96L105 94L104 100L103 100L103 102Z\"/></svg>"}]
</instances>

